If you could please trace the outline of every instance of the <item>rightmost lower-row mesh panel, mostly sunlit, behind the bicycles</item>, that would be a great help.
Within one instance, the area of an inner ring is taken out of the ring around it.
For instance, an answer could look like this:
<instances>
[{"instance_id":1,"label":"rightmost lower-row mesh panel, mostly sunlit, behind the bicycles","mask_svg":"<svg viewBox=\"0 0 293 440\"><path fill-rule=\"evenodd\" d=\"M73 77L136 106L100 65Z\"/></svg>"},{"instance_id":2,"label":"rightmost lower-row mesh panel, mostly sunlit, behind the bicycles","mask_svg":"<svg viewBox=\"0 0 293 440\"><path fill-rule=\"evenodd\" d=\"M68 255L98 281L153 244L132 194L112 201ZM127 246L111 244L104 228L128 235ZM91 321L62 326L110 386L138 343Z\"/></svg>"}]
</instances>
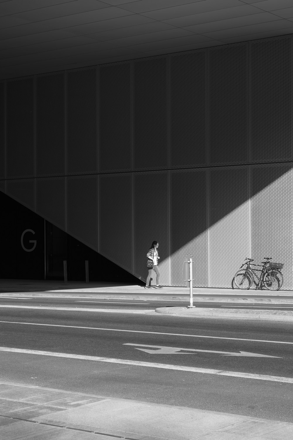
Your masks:
<instances>
[{"instance_id":1,"label":"rightmost lower-row mesh panel, mostly sunlit, behind the bicycles","mask_svg":"<svg viewBox=\"0 0 293 440\"><path fill-rule=\"evenodd\" d=\"M293 288L292 213L293 170L287 165L252 167L251 200L252 257L261 262L272 257L284 263L282 289Z\"/></svg>"}]
</instances>

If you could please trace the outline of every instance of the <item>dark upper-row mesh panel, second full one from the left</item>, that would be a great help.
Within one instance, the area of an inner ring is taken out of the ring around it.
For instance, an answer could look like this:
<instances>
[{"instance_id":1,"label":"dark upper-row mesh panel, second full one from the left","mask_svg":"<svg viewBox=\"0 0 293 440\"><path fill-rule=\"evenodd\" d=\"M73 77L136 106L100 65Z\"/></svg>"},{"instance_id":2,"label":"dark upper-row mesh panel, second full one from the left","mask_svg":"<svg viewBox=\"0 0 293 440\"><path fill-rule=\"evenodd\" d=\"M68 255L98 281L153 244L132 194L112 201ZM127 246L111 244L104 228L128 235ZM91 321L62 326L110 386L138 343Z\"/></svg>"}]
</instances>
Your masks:
<instances>
[{"instance_id":1,"label":"dark upper-row mesh panel, second full one from the left","mask_svg":"<svg viewBox=\"0 0 293 440\"><path fill-rule=\"evenodd\" d=\"M36 78L36 176L65 172L64 73Z\"/></svg>"}]
</instances>

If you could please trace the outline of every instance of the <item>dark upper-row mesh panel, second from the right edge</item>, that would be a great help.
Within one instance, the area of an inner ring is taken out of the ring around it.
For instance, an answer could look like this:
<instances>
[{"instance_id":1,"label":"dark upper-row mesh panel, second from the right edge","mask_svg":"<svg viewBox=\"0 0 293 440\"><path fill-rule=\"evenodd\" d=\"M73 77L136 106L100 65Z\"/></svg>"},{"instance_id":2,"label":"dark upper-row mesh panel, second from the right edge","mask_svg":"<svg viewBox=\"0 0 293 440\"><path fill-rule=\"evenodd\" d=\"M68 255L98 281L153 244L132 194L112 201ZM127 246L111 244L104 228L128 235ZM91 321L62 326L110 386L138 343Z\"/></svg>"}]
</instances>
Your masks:
<instances>
[{"instance_id":1,"label":"dark upper-row mesh panel, second from the right edge","mask_svg":"<svg viewBox=\"0 0 293 440\"><path fill-rule=\"evenodd\" d=\"M237 44L209 51L210 161L248 159L247 49Z\"/></svg>"}]
</instances>

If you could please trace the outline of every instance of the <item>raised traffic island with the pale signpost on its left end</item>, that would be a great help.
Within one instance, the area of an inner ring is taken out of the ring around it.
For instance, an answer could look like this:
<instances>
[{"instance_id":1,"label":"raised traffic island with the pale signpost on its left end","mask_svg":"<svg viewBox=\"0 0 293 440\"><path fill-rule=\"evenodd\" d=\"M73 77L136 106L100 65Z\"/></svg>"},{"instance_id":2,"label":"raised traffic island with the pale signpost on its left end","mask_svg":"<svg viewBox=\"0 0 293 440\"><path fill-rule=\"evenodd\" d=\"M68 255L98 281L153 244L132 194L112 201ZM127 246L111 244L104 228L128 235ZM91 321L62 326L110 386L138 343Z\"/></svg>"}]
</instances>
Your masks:
<instances>
[{"instance_id":1,"label":"raised traffic island with the pale signpost on its left end","mask_svg":"<svg viewBox=\"0 0 293 440\"><path fill-rule=\"evenodd\" d=\"M174 310L176 309L176 310ZM243 310L247 310L243 313ZM267 313L266 310L257 310L253 313L251 310L231 309L229 312L222 312L216 308L190 308L187 307L159 307L155 309L156 313L162 315L179 316L182 318L216 318L216 319L250 319L256 321L289 321L293 322L293 312L277 312L277 314Z\"/></svg>"}]
</instances>

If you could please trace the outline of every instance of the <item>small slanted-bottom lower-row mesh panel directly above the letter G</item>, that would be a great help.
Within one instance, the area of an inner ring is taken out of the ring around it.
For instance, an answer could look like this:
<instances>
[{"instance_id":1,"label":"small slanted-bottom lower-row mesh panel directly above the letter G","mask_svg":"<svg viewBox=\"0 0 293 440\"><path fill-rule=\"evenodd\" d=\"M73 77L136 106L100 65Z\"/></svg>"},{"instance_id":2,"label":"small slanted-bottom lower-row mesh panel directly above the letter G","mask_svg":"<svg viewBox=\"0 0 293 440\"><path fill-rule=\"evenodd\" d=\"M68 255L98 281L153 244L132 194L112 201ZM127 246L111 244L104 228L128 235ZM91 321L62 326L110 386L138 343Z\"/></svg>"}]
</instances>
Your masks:
<instances>
[{"instance_id":1,"label":"small slanted-bottom lower-row mesh panel directly above the letter G","mask_svg":"<svg viewBox=\"0 0 293 440\"><path fill-rule=\"evenodd\" d=\"M35 210L34 179L7 180L6 194L32 211Z\"/></svg>"}]
</instances>

